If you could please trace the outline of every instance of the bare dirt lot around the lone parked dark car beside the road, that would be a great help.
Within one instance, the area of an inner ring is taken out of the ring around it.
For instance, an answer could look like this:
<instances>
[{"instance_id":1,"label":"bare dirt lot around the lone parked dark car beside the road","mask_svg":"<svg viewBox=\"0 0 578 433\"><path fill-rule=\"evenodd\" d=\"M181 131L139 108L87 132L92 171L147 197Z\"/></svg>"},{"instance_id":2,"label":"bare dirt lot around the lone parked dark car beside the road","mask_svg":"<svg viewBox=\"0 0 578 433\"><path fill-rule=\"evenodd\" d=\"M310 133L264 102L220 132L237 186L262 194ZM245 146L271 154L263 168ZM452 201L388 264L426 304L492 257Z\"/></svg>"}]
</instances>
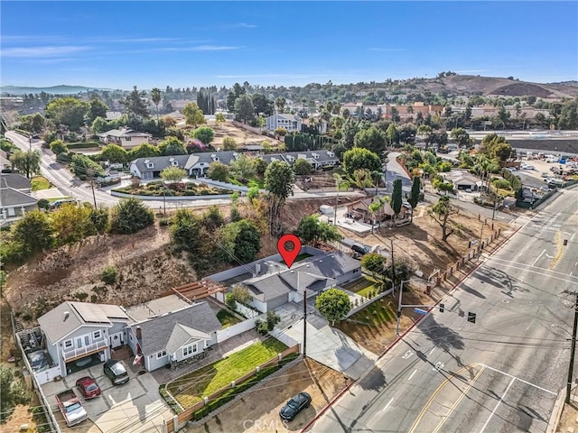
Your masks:
<instances>
[{"instance_id":1,"label":"bare dirt lot around the lone parked dark car beside the road","mask_svg":"<svg viewBox=\"0 0 578 433\"><path fill-rule=\"evenodd\" d=\"M311 359L285 370L265 386L249 391L217 417L189 433L238 433L301 431L346 385L345 376ZM291 422L279 418L285 402L299 392L309 392L312 403Z\"/></svg>"}]
</instances>

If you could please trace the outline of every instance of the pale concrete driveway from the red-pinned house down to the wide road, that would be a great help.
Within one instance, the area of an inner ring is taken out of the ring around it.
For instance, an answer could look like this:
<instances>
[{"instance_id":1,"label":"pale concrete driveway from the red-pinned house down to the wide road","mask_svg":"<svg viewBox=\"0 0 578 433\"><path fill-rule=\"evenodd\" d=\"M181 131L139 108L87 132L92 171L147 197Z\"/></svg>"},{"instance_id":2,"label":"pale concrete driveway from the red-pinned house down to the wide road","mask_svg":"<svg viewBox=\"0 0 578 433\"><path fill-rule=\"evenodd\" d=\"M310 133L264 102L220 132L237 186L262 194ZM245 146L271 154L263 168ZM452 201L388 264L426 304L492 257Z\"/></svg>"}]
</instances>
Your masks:
<instances>
[{"instance_id":1,"label":"pale concrete driveway from the red-pinned house down to the wide road","mask_svg":"<svg viewBox=\"0 0 578 433\"><path fill-rule=\"evenodd\" d=\"M308 299L312 300L312 299ZM358 345L339 329L329 326L329 322L319 313L309 309L307 314L307 356L318 363L326 365L335 371L358 379L361 374L371 368L378 356ZM303 344L303 304L289 302L275 309L282 318L275 328L273 336L289 336L299 344Z\"/></svg>"}]
</instances>

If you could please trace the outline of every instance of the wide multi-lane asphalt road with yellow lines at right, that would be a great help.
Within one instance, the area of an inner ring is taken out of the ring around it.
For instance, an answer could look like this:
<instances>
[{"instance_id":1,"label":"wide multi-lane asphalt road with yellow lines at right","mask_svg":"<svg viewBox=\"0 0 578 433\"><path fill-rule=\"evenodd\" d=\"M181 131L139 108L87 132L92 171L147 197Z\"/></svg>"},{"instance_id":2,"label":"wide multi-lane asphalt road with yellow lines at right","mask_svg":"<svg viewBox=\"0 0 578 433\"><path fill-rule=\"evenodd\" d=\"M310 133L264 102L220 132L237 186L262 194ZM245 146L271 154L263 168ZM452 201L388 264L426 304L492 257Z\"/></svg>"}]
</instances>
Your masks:
<instances>
[{"instance_id":1,"label":"wide multi-lane asphalt road with yellow lines at right","mask_svg":"<svg viewBox=\"0 0 578 433\"><path fill-rule=\"evenodd\" d=\"M481 261L310 431L545 431L569 363L578 189Z\"/></svg>"}]
</instances>

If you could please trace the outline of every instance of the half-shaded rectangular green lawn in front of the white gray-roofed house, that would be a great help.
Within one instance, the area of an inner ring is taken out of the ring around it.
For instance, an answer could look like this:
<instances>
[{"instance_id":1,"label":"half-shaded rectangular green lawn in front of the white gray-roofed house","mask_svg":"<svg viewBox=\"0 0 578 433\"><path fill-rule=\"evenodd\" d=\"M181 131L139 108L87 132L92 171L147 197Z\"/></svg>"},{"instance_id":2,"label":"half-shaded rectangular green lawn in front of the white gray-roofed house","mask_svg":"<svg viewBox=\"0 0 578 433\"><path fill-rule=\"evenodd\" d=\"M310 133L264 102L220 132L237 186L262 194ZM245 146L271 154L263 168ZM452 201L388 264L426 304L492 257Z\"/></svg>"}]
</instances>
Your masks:
<instances>
[{"instance_id":1,"label":"half-shaded rectangular green lawn in front of the white gray-roofed house","mask_svg":"<svg viewBox=\"0 0 578 433\"><path fill-rule=\"evenodd\" d=\"M169 382L168 389L183 408L189 408L285 349L287 346L275 339L249 345L225 359Z\"/></svg>"}]
</instances>

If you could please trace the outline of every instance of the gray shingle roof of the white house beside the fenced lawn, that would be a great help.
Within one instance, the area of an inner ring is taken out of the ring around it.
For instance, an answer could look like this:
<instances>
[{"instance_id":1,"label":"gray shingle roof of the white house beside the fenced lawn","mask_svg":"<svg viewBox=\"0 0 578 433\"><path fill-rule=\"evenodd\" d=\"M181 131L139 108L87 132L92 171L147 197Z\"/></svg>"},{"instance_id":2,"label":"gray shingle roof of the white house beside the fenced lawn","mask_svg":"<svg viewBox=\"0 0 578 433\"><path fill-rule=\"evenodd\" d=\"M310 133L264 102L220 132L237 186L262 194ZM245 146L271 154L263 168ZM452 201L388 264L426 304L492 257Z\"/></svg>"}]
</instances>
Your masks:
<instances>
[{"instance_id":1,"label":"gray shingle roof of the white house beside the fenced lawn","mask_svg":"<svg viewBox=\"0 0 578 433\"><path fill-rule=\"evenodd\" d=\"M140 327L143 355L153 355L163 350L172 353L194 335L210 334L220 329L221 324L209 304L201 302L158 318L134 323L131 327L135 331L136 327ZM174 348L172 352L169 346Z\"/></svg>"}]
</instances>

